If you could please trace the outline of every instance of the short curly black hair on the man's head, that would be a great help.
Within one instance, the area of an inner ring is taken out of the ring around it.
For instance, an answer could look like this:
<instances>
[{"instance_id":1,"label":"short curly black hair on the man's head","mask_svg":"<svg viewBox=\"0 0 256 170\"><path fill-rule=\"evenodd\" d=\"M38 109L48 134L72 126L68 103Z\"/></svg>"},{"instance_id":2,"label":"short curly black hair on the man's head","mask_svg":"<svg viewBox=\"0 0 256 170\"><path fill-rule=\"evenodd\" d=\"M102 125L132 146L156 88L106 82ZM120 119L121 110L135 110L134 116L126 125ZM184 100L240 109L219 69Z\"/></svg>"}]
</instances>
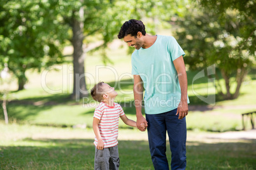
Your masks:
<instances>
[{"instance_id":1,"label":"short curly black hair on the man's head","mask_svg":"<svg viewBox=\"0 0 256 170\"><path fill-rule=\"evenodd\" d=\"M118 39L122 39L128 34L131 34L131 36L137 37L138 32L141 32L143 36L146 35L145 25L141 20L129 20L125 22L118 34Z\"/></svg>"}]
</instances>

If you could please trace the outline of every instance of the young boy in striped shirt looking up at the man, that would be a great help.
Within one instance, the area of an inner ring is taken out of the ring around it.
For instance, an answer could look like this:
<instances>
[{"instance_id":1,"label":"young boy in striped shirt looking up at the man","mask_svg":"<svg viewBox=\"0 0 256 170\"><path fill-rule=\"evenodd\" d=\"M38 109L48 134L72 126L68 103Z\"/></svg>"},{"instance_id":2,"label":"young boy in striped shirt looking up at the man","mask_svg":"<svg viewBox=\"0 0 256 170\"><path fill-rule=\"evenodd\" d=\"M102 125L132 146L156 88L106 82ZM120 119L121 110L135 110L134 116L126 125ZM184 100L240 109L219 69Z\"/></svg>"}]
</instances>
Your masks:
<instances>
[{"instance_id":1,"label":"young boy in striped shirt looking up at the man","mask_svg":"<svg viewBox=\"0 0 256 170\"><path fill-rule=\"evenodd\" d=\"M115 97L118 95L110 85L99 82L92 88L90 95L101 102L94 112L92 127L95 133L94 169L118 169L118 121L119 117L129 126L136 127L136 122L128 119ZM141 125L145 128L145 124Z\"/></svg>"}]
</instances>

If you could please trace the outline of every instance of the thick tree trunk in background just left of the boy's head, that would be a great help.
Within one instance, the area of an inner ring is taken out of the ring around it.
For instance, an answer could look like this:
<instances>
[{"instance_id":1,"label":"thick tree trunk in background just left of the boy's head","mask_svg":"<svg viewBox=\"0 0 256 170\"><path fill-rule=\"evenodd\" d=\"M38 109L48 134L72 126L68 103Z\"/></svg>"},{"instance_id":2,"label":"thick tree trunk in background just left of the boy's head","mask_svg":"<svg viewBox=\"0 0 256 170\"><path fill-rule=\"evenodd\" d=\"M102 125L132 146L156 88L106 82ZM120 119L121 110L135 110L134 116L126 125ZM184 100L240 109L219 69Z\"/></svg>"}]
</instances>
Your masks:
<instances>
[{"instance_id":1,"label":"thick tree trunk in background just left of the boy's head","mask_svg":"<svg viewBox=\"0 0 256 170\"><path fill-rule=\"evenodd\" d=\"M85 83L85 55L83 53L83 8L80 8L80 19L78 20L75 16L75 11L73 12L72 17L72 30L73 38L72 44L74 48L73 52L73 94L71 97L76 101L79 101L80 98L88 96L88 91Z\"/></svg>"}]
</instances>

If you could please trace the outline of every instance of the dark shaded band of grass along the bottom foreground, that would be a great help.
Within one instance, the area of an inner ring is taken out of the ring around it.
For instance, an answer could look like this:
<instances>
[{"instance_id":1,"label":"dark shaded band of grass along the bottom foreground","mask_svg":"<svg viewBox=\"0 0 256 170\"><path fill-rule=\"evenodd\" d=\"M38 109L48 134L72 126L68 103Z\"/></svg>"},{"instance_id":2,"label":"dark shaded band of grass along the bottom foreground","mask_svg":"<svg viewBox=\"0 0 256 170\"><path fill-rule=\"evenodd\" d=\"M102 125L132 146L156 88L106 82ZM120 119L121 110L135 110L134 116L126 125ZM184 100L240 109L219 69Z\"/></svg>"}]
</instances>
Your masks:
<instances>
[{"instance_id":1,"label":"dark shaded band of grass along the bottom foreground","mask_svg":"<svg viewBox=\"0 0 256 170\"><path fill-rule=\"evenodd\" d=\"M26 146L0 146L1 169L93 169L93 140L41 139L23 141ZM32 147L33 146L33 147ZM256 141L187 142L187 169L253 169ZM119 141L121 169L153 169L148 141ZM171 160L169 144L167 159Z\"/></svg>"}]
</instances>

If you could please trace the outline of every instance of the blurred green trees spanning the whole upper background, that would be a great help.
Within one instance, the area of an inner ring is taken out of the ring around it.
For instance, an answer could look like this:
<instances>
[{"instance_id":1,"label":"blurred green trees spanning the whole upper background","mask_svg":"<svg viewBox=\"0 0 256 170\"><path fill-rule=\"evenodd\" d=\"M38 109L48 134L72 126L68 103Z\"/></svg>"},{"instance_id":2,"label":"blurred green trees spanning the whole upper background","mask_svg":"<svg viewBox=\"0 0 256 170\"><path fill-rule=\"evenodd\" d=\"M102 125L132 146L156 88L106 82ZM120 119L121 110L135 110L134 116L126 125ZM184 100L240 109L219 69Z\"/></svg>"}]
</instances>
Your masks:
<instances>
[{"instance_id":1,"label":"blurred green trees spanning the whole upper background","mask_svg":"<svg viewBox=\"0 0 256 170\"><path fill-rule=\"evenodd\" d=\"M62 50L71 44L71 96L79 100L88 95L84 76L88 44L92 39L101 42L94 50L101 51L104 63L110 62L108 43L116 38L122 23L136 18L149 21L146 30L152 34L159 25L173 24L174 36L187 51L189 69L215 64L225 80L225 90L217 84L218 93L225 99L237 98L248 69L255 65L254 7L253 1L238 0L5 0L0 3L0 65L8 65L21 90L27 70L40 72L63 63Z\"/></svg>"}]
</instances>

